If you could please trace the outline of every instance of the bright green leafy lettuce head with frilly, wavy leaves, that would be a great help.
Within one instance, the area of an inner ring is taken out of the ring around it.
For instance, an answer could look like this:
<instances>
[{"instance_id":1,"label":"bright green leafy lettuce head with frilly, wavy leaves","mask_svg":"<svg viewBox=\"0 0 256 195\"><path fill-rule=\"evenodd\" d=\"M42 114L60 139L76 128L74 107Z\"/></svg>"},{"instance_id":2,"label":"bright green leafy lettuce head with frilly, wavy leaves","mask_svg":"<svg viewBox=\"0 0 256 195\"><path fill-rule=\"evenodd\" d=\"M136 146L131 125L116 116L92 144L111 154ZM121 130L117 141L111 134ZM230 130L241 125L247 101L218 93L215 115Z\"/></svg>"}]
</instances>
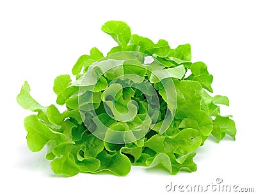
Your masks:
<instances>
[{"instance_id":1,"label":"bright green leafy lettuce head with frilly, wavy leaves","mask_svg":"<svg viewBox=\"0 0 256 195\"><path fill-rule=\"evenodd\" d=\"M235 140L236 125L220 115L226 96L211 96L213 76L204 62L191 62L189 44L171 48L132 34L121 21L102 26L118 46L104 55L95 47L72 68L76 78L54 80L56 103L42 106L25 82L17 96L26 117L28 148L47 147L56 174L107 170L127 175L134 166L161 166L175 175L196 171L196 149L212 136ZM189 74L190 72L190 74Z\"/></svg>"}]
</instances>

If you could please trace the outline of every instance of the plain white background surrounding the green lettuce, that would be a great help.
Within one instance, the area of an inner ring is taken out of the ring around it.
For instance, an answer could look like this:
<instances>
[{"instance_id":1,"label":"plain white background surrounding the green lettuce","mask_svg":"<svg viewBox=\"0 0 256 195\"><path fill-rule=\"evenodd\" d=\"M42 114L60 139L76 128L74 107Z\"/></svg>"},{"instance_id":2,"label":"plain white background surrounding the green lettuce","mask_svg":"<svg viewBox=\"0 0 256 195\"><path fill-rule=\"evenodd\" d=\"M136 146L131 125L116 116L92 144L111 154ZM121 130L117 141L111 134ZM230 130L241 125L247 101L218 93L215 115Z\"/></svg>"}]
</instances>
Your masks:
<instances>
[{"instance_id":1,"label":"plain white background surrounding the green lettuce","mask_svg":"<svg viewBox=\"0 0 256 195\"><path fill-rule=\"evenodd\" d=\"M1 1L0 194L170 194L165 191L170 182L207 185L218 177L223 184L256 191L255 18L255 4L246 0ZM78 57L90 48L106 55L116 46L100 31L108 20L123 20L133 33L168 40L172 48L191 43L192 61L204 61L214 75L214 94L230 99L223 114L234 115L237 140L206 141L195 157L194 173L172 176L163 170L132 167L126 177L54 175L44 152L32 153L26 147L23 119L30 112L17 105L16 96L27 80L39 103L55 103L56 76L70 74Z\"/></svg>"}]
</instances>

